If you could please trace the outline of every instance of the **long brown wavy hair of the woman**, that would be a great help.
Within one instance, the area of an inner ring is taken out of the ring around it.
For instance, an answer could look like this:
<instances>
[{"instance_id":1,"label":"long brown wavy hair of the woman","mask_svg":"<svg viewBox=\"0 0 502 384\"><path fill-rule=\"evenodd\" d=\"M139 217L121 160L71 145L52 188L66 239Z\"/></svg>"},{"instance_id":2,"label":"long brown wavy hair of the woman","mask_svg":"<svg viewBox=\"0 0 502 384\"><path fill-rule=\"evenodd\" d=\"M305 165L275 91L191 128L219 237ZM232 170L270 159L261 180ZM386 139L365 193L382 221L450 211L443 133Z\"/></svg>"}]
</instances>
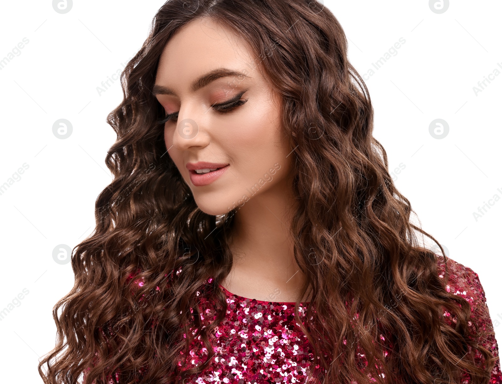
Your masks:
<instances>
[{"instance_id":1,"label":"long brown wavy hair of the woman","mask_svg":"<svg viewBox=\"0 0 502 384\"><path fill-rule=\"evenodd\" d=\"M87 383L180 382L180 351L199 336L208 358L186 372L212 360L209 334L225 314L218 283L232 267L226 244L235 211L198 209L166 155L164 110L152 94L166 43L203 17L242 36L282 96L295 148L294 257L306 277L299 297L312 292L310 320L302 324L298 310L295 318L324 369L322 382L374 382L367 373L375 361L385 372L372 373L377 382L458 382L462 371L473 384L488 382L496 358L478 343L481 333L469 331L469 303L445 290L438 257L420 244L415 231L436 242L446 262L436 239L410 222L410 202L372 137L371 101L348 62L342 27L314 0L170 0L158 11L121 74L123 100L107 117L117 135L105 160L114 178L96 200L94 232L73 250L75 285L53 310L58 338L38 366L44 382L73 383L86 368ZM219 308L210 325L197 315L202 296ZM454 327L444 323L445 309ZM383 329L394 335L394 358L386 360Z\"/></svg>"}]
</instances>

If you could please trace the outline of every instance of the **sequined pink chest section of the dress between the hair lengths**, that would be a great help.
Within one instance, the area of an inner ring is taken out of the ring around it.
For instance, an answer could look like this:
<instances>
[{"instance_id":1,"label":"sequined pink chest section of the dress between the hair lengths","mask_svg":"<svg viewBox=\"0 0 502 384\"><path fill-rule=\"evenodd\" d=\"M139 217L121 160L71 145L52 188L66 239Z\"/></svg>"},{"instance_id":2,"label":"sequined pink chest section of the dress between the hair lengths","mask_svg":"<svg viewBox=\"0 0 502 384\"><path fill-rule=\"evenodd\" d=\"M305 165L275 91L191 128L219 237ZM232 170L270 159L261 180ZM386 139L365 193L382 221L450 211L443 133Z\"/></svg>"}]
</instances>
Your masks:
<instances>
[{"instance_id":1,"label":"sequined pink chest section of the dress between the hair lengths","mask_svg":"<svg viewBox=\"0 0 502 384\"><path fill-rule=\"evenodd\" d=\"M314 356L307 336L294 318L293 303L239 300L234 296L227 298L227 305L224 320L209 334L215 353L209 367L185 383L309 381L315 368ZM210 305L201 309L203 323L214 320L216 313ZM303 319L306 309L299 307L298 311ZM191 343L189 355L180 356L178 365L186 370L201 365L207 356L206 346L196 339Z\"/></svg>"}]
</instances>

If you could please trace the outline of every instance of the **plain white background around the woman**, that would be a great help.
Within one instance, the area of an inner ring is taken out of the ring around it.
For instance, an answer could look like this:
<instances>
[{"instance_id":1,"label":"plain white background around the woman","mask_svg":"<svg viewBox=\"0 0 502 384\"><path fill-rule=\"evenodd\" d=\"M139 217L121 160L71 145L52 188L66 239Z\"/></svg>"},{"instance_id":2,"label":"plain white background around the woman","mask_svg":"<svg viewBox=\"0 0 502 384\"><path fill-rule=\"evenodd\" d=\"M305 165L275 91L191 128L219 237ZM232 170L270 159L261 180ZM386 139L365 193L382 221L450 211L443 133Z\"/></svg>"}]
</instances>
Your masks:
<instances>
[{"instance_id":1,"label":"plain white background around the woman","mask_svg":"<svg viewBox=\"0 0 502 384\"><path fill-rule=\"evenodd\" d=\"M71 265L57 264L53 249L73 248L92 232L95 199L111 180L104 157L115 134L105 118L122 93L119 82L100 95L96 87L138 51L163 3L75 1L66 14L47 0L2 3L0 58L29 40L0 70L0 184L29 165L0 196L0 309L29 291L0 321L2 382L42 382L36 366L54 346L51 311L73 286ZM479 274L502 340L502 201L477 221L473 217L495 194L502 198L502 76L477 95L473 91L495 68L502 71L502 4L452 3L443 14L419 0L325 5L343 26L349 58L361 75L400 38L406 40L396 56L365 76L374 136L387 150L391 171L405 165L395 182L422 228L452 259ZM52 132L62 118L73 126L66 139ZM443 139L429 133L438 118L449 124Z\"/></svg>"}]
</instances>

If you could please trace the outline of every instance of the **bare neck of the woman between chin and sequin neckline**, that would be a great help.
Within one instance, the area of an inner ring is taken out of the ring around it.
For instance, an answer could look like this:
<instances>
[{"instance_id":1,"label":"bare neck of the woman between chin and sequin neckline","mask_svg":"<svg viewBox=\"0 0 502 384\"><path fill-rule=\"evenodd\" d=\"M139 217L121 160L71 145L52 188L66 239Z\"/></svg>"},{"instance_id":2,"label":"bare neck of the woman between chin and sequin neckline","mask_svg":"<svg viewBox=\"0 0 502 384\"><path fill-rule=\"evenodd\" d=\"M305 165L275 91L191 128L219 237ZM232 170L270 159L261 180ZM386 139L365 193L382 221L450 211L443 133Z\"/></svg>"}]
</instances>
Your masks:
<instances>
[{"instance_id":1,"label":"bare neck of the woman between chin and sequin neckline","mask_svg":"<svg viewBox=\"0 0 502 384\"><path fill-rule=\"evenodd\" d=\"M221 282L228 291L257 300L296 301L304 275L293 256L296 200L291 196L279 184L237 208L228 242L233 266Z\"/></svg>"}]
</instances>

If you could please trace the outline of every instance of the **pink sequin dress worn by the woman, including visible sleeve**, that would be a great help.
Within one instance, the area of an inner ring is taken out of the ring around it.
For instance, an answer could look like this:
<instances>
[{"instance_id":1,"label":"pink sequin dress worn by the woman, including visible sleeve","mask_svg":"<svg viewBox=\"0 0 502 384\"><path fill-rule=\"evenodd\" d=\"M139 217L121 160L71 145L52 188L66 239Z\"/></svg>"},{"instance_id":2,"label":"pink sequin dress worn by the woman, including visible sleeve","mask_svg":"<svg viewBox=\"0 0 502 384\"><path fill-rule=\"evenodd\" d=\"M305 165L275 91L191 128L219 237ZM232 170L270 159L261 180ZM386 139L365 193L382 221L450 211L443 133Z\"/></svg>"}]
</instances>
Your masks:
<instances>
[{"instance_id":1,"label":"pink sequin dress worn by the woman, including visible sleeve","mask_svg":"<svg viewBox=\"0 0 502 384\"><path fill-rule=\"evenodd\" d=\"M444 265L438 258L439 277L443 278ZM478 275L470 268L448 261L450 272L446 290L460 295L471 304L476 321L469 327L478 327L491 332L480 343L498 356L498 346L493 333L493 325L486 306L486 298ZM209 279L211 280L211 279ZM136 281L140 283L141 281ZM268 302L235 295L223 286L219 286L226 295L228 309L223 322L211 334L215 356L212 364L199 374L193 374L185 383L195 384L263 384L263 383L318 383L316 372L319 365L313 363L312 346L294 320L295 303ZM300 318L305 316L308 303L298 308ZM201 301L202 320L212 322L215 319L214 303ZM454 326L456 318L450 313L443 314L447 324ZM192 332L194 328L190 328ZM195 333L195 332L194 332ZM186 335L185 335L186 337ZM380 335L387 343L391 353L389 335ZM362 351L358 358L367 364ZM207 359L208 351L201 340L193 340L189 354L181 354L178 365L181 371L200 365ZM387 356L387 354L386 354ZM481 356L476 360L481 365ZM379 371L384 375L385 372ZM384 376L383 376L384 377ZM373 379L374 380L374 379ZM120 382L120 381L119 381ZM491 384L502 384L500 361L497 360L491 372ZM467 373L462 384L469 384Z\"/></svg>"}]
</instances>

